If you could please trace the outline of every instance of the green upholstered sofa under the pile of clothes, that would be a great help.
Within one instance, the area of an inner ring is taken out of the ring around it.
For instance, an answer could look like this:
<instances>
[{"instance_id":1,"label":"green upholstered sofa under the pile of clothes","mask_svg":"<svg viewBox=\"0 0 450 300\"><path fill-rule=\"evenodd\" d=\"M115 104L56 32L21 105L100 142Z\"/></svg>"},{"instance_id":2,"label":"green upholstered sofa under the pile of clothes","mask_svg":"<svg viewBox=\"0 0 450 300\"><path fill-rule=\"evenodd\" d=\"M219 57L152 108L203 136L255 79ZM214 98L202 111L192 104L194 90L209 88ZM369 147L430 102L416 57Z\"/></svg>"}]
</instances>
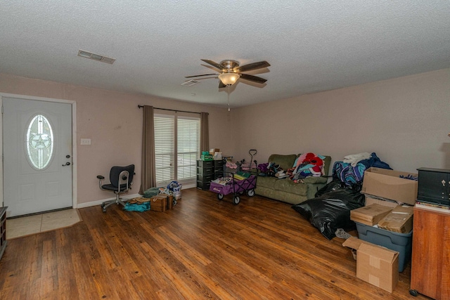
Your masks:
<instances>
[{"instance_id":1,"label":"green upholstered sofa under the pile of clothes","mask_svg":"<svg viewBox=\"0 0 450 300\"><path fill-rule=\"evenodd\" d=\"M269 162L279 164L283 170L293 167L295 159L299 155L278 155L273 154L269 157ZM325 176L328 176L331 157L326 156L323 159L323 170ZM303 179L303 183L295 183L289 178L278 179L276 177L258 176L255 193L275 200L288 202L290 204L299 204L305 200L314 198L316 192L323 188L327 183L326 177L309 176Z\"/></svg>"}]
</instances>

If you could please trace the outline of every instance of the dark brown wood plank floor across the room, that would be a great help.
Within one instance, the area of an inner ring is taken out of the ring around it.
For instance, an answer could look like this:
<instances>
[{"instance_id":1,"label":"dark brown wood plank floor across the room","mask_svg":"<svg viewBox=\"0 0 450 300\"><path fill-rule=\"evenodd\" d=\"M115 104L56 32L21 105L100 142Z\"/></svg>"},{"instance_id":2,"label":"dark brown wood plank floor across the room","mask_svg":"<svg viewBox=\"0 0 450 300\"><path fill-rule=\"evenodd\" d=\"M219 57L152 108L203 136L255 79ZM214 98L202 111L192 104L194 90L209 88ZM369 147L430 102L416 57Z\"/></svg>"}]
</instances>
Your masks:
<instances>
[{"instance_id":1,"label":"dark brown wood plank floor across the room","mask_svg":"<svg viewBox=\"0 0 450 300\"><path fill-rule=\"evenodd\" d=\"M182 196L164 213L79 209L75 226L8 241L0 299L427 299L409 295L409 264L392 294L357 279L343 240L290 204Z\"/></svg>"}]
</instances>

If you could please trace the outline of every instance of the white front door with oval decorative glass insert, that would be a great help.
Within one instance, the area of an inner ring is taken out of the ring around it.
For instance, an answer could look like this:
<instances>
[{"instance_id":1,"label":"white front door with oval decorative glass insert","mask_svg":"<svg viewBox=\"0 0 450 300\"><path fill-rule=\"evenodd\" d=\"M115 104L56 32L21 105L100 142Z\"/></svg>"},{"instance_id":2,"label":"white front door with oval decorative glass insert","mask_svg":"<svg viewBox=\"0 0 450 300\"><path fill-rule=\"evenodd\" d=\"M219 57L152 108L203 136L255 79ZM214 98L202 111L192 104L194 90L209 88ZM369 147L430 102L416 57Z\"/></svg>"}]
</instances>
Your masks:
<instances>
[{"instance_id":1,"label":"white front door with oval decorative glass insert","mask_svg":"<svg viewBox=\"0 0 450 300\"><path fill-rule=\"evenodd\" d=\"M8 216L72 207L72 105L3 98Z\"/></svg>"}]
</instances>

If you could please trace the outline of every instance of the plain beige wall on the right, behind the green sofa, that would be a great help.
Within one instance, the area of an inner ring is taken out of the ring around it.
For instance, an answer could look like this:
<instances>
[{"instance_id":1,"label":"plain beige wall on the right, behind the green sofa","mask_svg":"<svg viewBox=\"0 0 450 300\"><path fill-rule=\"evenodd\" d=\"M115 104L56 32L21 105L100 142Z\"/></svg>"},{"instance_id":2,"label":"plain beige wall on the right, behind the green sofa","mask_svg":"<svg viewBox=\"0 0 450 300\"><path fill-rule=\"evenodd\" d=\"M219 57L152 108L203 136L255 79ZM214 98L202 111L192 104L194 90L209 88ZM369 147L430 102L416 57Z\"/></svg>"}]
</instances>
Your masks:
<instances>
[{"instance_id":1,"label":"plain beige wall on the right, behind the green sofa","mask_svg":"<svg viewBox=\"0 0 450 300\"><path fill-rule=\"evenodd\" d=\"M376 152L400 171L450 169L450 69L233 110L235 157Z\"/></svg>"}]
</instances>

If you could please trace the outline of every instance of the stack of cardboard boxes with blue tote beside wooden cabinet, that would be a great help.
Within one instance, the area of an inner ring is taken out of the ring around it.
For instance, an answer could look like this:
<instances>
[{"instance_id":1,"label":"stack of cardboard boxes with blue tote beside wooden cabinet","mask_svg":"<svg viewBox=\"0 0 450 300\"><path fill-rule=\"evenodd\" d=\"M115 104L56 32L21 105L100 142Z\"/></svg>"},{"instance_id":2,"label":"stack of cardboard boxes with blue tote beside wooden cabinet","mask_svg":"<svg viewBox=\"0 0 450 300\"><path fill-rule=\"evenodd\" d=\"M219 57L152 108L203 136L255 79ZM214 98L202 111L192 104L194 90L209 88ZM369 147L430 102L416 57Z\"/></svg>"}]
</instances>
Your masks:
<instances>
[{"instance_id":1,"label":"stack of cardboard boxes with blue tote beside wooden cabinet","mask_svg":"<svg viewBox=\"0 0 450 300\"><path fill-rule=\"evenodd\" d=\"M359 239L343 244L356 249L356 277L392 292L411 259L413 205L417 174L380 168L364 172L366 206L350 211ZM362 245L362 246L361 246Z\"/></svg>"}]
</instances>

